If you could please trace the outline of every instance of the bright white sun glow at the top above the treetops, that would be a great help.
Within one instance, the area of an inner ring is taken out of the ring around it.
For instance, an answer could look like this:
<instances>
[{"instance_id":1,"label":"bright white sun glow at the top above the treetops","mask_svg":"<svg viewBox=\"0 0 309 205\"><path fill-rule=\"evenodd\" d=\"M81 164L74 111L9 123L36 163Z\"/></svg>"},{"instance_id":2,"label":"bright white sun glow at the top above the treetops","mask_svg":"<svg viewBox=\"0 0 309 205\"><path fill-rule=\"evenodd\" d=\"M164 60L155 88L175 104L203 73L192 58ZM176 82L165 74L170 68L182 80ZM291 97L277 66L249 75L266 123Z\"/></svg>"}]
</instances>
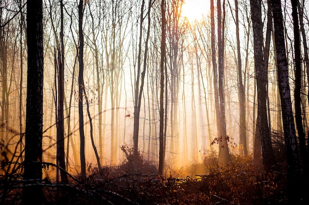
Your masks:
<instances>
[{"instance_id":1,"label":"bright white sun glow at the top above the treetops","mask_svg":"<svg viewBox=\"0 0 309 205\"><path fill-rule=\"evenodd\" d=\"M182 7L182 16L190 22L200 20L203 15L207 15L210 9L208 0L185 0Z\"/></svg>"}]
</instances>

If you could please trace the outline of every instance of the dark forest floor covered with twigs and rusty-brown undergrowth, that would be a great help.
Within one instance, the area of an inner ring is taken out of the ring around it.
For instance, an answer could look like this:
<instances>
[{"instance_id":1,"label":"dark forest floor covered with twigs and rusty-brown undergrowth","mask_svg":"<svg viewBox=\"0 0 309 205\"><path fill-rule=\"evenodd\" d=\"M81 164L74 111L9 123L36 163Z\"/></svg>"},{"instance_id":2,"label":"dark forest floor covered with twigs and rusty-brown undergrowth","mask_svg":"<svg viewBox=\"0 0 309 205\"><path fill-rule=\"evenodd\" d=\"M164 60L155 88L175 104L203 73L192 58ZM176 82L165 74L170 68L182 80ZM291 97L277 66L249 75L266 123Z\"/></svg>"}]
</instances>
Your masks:
<instances>
[{"instance_id":1,"label":"dark forest floor covered with twigs and rusty-brown undergrowth","mask_svg":"<svg viewBox=\"0 0 309 205\"><path fill-rule=\"evenodd\" d=\"M142 158L141 169L133 173L127 154L122 165L88 170L82 182L79 176L70 176L69 184L41 181L44 205L287 205L286 173L257 170L247 158L233 155L231 165L220 169L211 163L214 158L205 158L175 170L175 176L158 176L156 167ZM206 168L204 174L194 175L198 167ZM18 179L0 179L0 203L20 204Z\"/></svg>"}]
</instances>

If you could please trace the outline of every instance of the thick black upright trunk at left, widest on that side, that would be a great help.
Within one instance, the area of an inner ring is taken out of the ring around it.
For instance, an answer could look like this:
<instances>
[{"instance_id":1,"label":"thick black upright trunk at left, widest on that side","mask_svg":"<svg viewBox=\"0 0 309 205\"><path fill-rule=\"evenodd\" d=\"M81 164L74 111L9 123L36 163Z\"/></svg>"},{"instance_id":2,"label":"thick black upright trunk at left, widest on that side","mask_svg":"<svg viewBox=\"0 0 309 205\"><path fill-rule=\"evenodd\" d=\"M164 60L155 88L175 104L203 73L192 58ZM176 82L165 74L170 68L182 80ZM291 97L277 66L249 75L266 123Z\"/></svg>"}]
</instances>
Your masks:
<instances>
[{"instance_id":1,"label":"thick black upright trunk at left, widest on that side","mask_svg":"<svg viewBox=\"0 0 309 205\"><path fill-rule=\"evenodd\" d=\"M42 178L42 129L43 129L43 2L27 1L27 105L24 178ZM33 183L33 182L32 182ZM41 205L40 186L23 189L24 205Z\"/></svg>"}]
</instances>

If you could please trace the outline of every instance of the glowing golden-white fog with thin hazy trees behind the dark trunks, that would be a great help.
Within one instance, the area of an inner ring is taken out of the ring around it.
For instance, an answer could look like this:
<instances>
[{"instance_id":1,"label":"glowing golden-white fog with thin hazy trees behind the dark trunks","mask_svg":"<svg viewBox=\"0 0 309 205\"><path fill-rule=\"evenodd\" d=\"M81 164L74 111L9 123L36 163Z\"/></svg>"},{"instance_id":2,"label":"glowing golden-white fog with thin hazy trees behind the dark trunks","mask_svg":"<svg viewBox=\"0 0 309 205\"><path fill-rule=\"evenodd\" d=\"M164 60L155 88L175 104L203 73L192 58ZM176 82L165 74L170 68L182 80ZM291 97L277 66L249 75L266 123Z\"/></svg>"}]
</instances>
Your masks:
<instances>
[{"instance_id":1,"label":"glowing golden-white fog with thin hazy trees behind the dark trunks","mask_svg":"<svg viewBox=\"0 0 309 205\"><path fill-rule=\"evenodd\" d=\"M217 15L220 9L214 2L212 39L210 9L207 8L209 13L202 19L188 21L181 13L182 6L185 6L181 0L166 0L166 24L163 27L161 1L84 1L82 11L79 10L83 14L80 25L76 1L63 2L61 10L59 1L44 0L42 161L56 164L57 124L59 129L59 122L62 121L59 120L62 119L59 109L63 109L63 133L59 134L58 131L58 136L64 137L64 168L69 173L80 173L78 108L81 98L85 164L88 170L98 166L97 156L100 166L121 164L125 160L125 153L120 147L133 147L134 137L135 145L138 143L138 150L143 157L158 164L160 125L163 127L164 174L200 163L207 155L218 155L219 151L223 153L221 149L228 148L228 153L253 159L259 97L265 101L266 132L270 137L274 134L282 136L284 141L274 52L275 36L267 30L267 3L263 2L262 6L261 34L262 41L269 40L269 58L265 62L268 69L263 73L266 81L261 82L264 83L261 85L265 88L265 94L259 96L250 2L239 0L237 15L235 2L221 2L220 18ZM299 6L299 11L303 12L300 13L303 19L299 21L302 23L301 29L305 31L300 38L301 70L297 71L301 74L299 102L305 136L308 136L308 68L304 60L307 7L304 7L303 1ZM26 2L17 0L4 0L0 7L1 153L16 152L16 157L22 153L22 157L18 157L19 161L24 159L26 91L27 87L32 86L27 85L26 81L26 8ZM290 2L286 2L282 9L289 86L294 103L296 54ZM163 61L162 28L165 28L166 35ZM84 86L80 86L81 81L78 80L80 29L84 42ZM264 49L267 43L262 45ZM163 66L163 75L160 65ZM63 101L59 100L61 68ZM216 72L218 76L214 78ZM160 92L162 77L163 95ZM219 84L214 83L214 79ZM62 102L63 108L59 106ZM216 106L219 106L219 110L216 110ZM218 115L221 117L218 118ZM19 143L20 139L22 143ZM261 154L257 156L258 159L262 157ZM258 163L262 166L261 162ZM44 172L49 176L55 175L54 171Z\"/></svg>"}]
</instances>

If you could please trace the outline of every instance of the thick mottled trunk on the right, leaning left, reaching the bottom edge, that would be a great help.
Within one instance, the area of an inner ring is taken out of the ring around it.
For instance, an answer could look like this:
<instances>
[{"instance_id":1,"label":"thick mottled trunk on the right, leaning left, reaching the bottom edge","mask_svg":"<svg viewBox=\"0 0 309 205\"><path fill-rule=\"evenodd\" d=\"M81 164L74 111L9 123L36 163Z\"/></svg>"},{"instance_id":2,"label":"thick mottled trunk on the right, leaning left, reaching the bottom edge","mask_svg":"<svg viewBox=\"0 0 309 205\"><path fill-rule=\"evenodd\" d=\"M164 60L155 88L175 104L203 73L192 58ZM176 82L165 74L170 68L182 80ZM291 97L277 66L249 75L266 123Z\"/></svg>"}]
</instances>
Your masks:
<instances>
[{"instance_id":1,"label":"thick mottled trunk on the right, leaning left, reaching the bottom edge","mask_svg":"<svg viewBox=\"0 0 309 205\"><path fill-rule=\"evenodd\" d=\"M300 187L302 187L300 180L301 171L299 166L298 145L291 103L281 2L280 0L269 0L269 4L271 4L273 15L278 86L281 99L282 122L287 158L288 204L298 204L300 202Z\"/></svg>"}]
</instances>

